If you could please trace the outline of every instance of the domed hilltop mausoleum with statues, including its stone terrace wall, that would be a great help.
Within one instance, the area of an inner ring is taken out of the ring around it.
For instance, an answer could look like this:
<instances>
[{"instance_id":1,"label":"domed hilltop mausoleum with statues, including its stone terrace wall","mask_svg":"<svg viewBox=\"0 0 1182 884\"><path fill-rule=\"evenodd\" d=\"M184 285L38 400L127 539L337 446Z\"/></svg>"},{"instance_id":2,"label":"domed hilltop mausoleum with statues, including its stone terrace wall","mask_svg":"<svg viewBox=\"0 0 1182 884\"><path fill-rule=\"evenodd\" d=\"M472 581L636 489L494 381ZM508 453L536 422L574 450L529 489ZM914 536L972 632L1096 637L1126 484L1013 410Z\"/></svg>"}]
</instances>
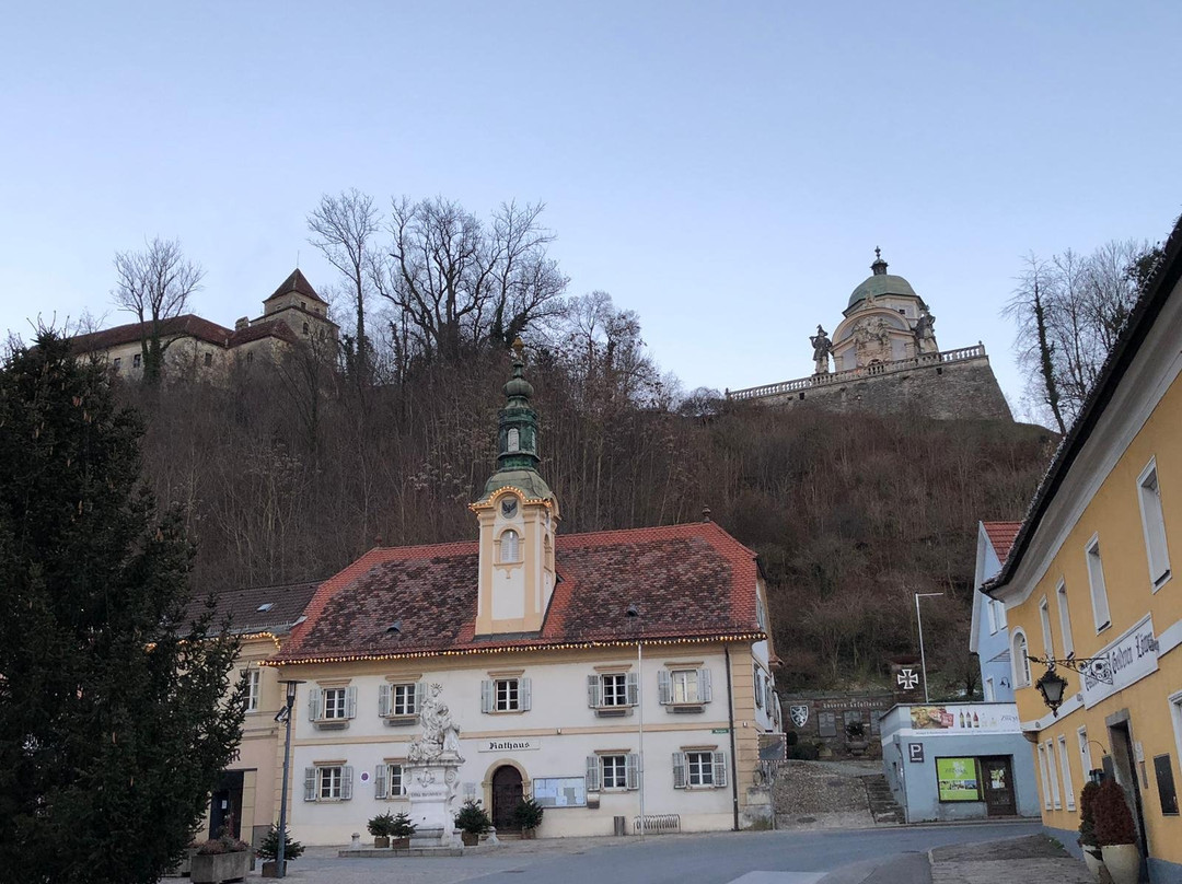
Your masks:
<instances>
[{"instance_id":1,"label":"domed hilltop mausoleum with statues, including its stone terrace wall","mask_svg":"<svg viewBox=\"0 0 1182 884\"><path fill-rule=\"evenodd\" d=\"M936 420L1012 421L985 345L941 350L936 317L911 284L888 273L886 266L876 248L871 274L850 294L832 337L817 326L808 339L812 375L727 390L727 398Z\"/></svg>"}]
</instances>

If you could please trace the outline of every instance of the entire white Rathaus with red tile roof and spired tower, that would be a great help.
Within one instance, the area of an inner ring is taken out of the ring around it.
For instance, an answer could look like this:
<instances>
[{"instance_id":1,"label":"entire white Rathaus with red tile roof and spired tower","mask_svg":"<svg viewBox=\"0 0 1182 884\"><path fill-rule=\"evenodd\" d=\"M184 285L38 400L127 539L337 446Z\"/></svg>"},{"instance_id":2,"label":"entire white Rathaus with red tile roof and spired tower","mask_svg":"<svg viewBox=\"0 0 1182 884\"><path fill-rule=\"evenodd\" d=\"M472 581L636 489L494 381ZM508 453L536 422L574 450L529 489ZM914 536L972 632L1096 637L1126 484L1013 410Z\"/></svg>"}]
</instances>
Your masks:
<instances>
[{"instance_id":1,"label":"entire white Rathaus with red tile roof and spired tower","mask_svg":"<svg viewBox=\"0 0 1182 884\"><path fill-rule=\"evenodd\" d=\"M759 737L782 728L755 553L708 519L563 534L520 342L505 395L479 540L370 551L266 661L301 682L294 836L414 813L426 719L457 759L453 811L480 800L502 833L524 797L543 837L768 821Z\"/></svg>"}]
</instances>

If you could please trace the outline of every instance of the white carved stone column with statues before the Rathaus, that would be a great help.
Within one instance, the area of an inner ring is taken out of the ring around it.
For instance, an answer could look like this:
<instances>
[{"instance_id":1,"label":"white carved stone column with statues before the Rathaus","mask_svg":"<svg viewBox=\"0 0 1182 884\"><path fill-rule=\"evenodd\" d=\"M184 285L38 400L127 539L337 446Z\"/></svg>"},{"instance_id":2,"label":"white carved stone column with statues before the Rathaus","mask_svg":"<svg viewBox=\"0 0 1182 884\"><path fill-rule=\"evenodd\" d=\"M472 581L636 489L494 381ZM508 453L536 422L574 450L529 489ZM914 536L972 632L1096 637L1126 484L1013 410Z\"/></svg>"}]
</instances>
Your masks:
<instances>
[{"instance_id":1,"label":"white carved stone column with statues before the Rathaus","mask_svg":"<svg viewBox=\"0 0 1182 884\"><path fill-rule=\"evenodd\" d=\"M460 727L444 703L443 689L427 689L418 720L423 733L411 741L403 766L410 819L411 847L450 847L455 841L455 794L460 781Z\"/></svg>"}]
</instances>

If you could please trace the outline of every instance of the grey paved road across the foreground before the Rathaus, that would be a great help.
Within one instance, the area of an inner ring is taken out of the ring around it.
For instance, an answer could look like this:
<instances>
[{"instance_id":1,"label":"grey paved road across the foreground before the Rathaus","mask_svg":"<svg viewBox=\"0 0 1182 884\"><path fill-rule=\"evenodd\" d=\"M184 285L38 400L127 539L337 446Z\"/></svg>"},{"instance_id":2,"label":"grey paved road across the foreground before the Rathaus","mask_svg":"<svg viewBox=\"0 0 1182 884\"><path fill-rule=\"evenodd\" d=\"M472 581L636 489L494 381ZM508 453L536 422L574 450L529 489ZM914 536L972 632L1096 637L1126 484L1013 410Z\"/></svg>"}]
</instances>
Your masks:
<instances>
[{"instance_id":1,"label":"grey paved road across the foreground before the Rathaus","mask_svg":"<svg viewBox=\"0 0 1182 884\"><path fill-rule=\"evenodd\" d=\"M1014 838L1038 823L738 832L508 843L446 859L339 859L310 851L293 884L923 884L927 851ZM319 856L316 856L319 854Z\"/></svg>"}]
</instances>

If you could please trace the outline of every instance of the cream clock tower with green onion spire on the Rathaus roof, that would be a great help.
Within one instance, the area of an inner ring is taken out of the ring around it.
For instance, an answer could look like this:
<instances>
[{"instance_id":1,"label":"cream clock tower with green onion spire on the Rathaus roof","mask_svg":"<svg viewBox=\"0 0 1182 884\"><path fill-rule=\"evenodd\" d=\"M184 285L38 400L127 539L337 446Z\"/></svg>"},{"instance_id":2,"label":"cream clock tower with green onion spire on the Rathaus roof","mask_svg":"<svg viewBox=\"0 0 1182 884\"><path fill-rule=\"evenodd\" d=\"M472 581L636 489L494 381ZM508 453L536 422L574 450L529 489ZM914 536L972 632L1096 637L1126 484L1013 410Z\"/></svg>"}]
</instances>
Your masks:
<instances>
[{"instance_id":1,"label":"cream clock tower with green onion spire on the Rathaus roof","mask_svg":"<svg viewBox=\"0 0 1182 884\"><path fill-rule=\"evenodd\" d=\"M498 414L496 472L470 505L480 522L476 635L538 632L554 591L558 499L538 473L538 412L525 379L524 344Z\"/></svg>"}]
</instances>

